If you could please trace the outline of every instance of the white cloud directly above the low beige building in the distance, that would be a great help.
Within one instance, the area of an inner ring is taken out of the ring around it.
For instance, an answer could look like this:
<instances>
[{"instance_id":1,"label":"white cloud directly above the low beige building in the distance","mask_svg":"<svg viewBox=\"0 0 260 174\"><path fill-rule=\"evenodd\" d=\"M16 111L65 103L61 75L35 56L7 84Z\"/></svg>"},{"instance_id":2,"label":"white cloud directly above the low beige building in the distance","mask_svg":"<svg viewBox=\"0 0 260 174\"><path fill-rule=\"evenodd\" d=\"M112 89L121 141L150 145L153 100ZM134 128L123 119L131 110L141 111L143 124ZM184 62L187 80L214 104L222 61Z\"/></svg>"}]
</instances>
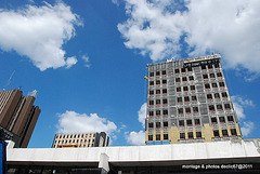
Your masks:
<instances>
[{"instance_id":1,"label":"white cloud directly above the low beige building in the distance","mask_svg":"<svg viewBox=\"0 0 260 174\"><path fill-rule=\"evenodd\" d=\"M96 113L77 113L72 110L66 110L58 115L58 133L90 133L90 132L106 132L112 134L117 130L114 122L99 117Z\"/></svg>"}]
</instances>

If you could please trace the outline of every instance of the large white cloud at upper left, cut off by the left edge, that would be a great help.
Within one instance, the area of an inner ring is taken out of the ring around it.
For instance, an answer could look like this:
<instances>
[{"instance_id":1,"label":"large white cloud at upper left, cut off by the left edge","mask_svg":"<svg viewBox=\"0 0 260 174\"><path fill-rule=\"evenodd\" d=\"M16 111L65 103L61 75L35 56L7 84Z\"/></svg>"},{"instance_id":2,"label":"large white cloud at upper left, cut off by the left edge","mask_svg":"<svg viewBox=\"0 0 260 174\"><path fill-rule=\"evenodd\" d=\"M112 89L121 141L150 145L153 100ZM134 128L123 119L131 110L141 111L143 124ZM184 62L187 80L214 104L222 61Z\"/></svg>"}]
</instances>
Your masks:
<instances>
[{"instance_id":1,"label":"large white cloud at upper left, cut off by the left edge","mask_svg":"<svg viewBox=\"0 0 260 174\"><path fill-rule=\"evenodd\" d=\"M79 17L62 2L42 6L27 5L18 11L0 10L0 49L27 56L40 70L69 68L76 57L65 57L62 45L81 25Z\"/></svg>"}]
</instances>

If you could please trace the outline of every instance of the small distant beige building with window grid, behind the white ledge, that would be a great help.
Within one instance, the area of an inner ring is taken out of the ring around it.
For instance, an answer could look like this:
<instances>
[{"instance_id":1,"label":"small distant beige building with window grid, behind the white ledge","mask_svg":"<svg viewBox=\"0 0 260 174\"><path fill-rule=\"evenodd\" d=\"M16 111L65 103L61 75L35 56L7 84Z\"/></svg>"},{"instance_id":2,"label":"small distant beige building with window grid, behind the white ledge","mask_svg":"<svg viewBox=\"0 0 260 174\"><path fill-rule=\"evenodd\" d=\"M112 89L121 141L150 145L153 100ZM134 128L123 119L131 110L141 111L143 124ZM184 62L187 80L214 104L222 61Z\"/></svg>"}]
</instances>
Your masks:
<instances>
[{"instance_id":1,"label":"small distant beige building with window grid, behind the white ledge","mask_svg":"<svg viewBox=\"0 0 260 174\"><path fill-rule=\"evenodd\" d=\"M107 147L109 137L105 132L83 134L56 134L53 148L64 147Z\"/></svg>"}]
</instances>

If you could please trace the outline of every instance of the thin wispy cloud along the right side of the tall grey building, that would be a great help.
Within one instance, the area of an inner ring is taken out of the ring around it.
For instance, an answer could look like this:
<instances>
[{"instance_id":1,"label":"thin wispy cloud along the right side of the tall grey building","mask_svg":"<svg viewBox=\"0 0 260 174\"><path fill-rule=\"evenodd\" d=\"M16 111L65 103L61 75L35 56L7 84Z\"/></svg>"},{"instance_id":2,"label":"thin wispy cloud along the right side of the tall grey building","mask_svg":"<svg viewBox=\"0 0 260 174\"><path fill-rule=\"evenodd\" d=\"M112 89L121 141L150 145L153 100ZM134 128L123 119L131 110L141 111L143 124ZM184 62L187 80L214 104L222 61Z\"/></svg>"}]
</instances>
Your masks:
<instances>
[{"instance_id":1,"label":"thin wispy cloud along the right side of the tall grey building","mask_svg":"<svg viewBox=\"0 0 260 174\"><path fill-rule=\"evenodd\" d=\"M244 108L253 107L253 102L250 99L245 99L238 95L232 96L231 98L233 101L237 118L240 122L242 134L243 136L248 136L252 132L255 124L251 121L243 121L246 119Z\"/></svg>"}]
</instances>

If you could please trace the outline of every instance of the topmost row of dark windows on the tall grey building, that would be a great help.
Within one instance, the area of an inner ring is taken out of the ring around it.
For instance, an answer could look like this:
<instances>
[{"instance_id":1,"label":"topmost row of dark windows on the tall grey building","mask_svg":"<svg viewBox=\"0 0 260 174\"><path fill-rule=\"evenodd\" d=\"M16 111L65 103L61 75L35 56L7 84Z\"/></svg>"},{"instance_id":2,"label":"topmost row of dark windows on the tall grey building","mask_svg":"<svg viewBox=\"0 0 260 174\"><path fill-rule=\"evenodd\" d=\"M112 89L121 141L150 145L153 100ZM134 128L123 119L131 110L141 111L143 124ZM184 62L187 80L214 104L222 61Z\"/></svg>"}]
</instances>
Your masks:
<instances>
[{"instance_id":1,"label":"topmost row of dark windows on the tall grey building","mask_svg":"<svg viewBox=\"0 0 260 174\"><path fill-rule=\"evenodd\" d=\"M207 67L208 67L208 69L212 69L213 68L213 66L212 66L212 64L209 64L209 65L202 65L202 70L206 70L207 69ZM219 64L214 64L214 68L219 68L220 66L219 66ZM180 73L180 72L182 72L182 73L185 73L185 72L192 72L193 71L193 69L192 69L192 67L183 67L183 68L178 68L178 69L174 69L174 72L178 75L178 73ZM157 71L152 71L152 72L150 72L150 77L155 77L155 76L166 76L166 70L157 70Z\"/></svg>"}]
</instances>

